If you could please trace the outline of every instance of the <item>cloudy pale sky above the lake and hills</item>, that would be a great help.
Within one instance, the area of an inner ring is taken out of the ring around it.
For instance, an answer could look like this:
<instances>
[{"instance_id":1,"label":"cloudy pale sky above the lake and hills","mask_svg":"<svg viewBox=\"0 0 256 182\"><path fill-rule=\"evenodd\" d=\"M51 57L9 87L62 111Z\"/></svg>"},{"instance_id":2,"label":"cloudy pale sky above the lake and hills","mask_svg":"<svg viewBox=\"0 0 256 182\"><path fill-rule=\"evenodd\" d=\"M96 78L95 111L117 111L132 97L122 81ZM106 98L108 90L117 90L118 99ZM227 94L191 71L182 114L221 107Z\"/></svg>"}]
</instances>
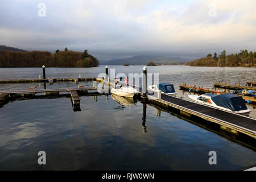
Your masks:
<instances>
[{"instance_id":1,"label":"cloudy pale sky above the lake and hills","mask_svg":"<svg viewBox=\"0 0 256 182\"><path fill-rule=\"evenodd\" d=\"M98 60L256 51L255 0L0 0L0 45Z\"/></svg>"}]
</instances>

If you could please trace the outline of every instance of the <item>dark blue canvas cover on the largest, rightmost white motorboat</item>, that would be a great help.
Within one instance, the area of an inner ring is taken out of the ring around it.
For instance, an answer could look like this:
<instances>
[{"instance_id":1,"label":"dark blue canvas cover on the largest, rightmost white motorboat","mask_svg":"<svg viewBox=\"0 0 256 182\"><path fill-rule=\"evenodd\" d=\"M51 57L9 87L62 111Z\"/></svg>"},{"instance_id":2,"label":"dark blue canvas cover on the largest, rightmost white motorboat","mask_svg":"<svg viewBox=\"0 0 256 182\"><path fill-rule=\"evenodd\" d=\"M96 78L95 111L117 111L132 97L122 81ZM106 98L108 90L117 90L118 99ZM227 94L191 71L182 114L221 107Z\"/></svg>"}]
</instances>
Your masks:
<instances>
[{"instance_id":1,"label":"dark blue canvas cover on the largest, rightmost white motorboat","mask_svg":"<svg viewBox=\"0 0 256 182\"><path fill-rule=\"evenodd\" d=\"M243 98L241 96L237 96L232 93L225 93L225 94L212 94L207 93L204 94L205 96L210 96L212 98L212 101L221 107L225 107L227 109L230 109L232 111L239 111L239 110L246 110L247 107L245 105L245 101L243 101Z\"/></svg>"}]
</instances>

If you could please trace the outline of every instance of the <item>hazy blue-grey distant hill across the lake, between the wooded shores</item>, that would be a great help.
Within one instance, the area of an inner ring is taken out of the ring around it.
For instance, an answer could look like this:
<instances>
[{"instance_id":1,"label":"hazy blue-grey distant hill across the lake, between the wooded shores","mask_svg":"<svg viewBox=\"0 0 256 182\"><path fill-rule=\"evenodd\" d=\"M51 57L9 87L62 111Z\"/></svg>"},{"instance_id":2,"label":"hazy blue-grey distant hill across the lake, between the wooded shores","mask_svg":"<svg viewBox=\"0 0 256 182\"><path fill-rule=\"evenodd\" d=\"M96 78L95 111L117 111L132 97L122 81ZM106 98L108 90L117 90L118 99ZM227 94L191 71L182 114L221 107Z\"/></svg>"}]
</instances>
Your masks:
<instances>
[{"instance_id":1,"label":"hazy blue-grey distant hill across the lake, between the wooded shores","mask_svg":"<svg viewBox=\"0 0 256 182\"><path fill-rule=\"evenodd\" d=\"M182 65L187 59L181 57L166 57L166 56L133 56L126 59L115 59L104 62L106 65L147 65L148 62L155 64Z\"/></svg>"}]
</instances>

